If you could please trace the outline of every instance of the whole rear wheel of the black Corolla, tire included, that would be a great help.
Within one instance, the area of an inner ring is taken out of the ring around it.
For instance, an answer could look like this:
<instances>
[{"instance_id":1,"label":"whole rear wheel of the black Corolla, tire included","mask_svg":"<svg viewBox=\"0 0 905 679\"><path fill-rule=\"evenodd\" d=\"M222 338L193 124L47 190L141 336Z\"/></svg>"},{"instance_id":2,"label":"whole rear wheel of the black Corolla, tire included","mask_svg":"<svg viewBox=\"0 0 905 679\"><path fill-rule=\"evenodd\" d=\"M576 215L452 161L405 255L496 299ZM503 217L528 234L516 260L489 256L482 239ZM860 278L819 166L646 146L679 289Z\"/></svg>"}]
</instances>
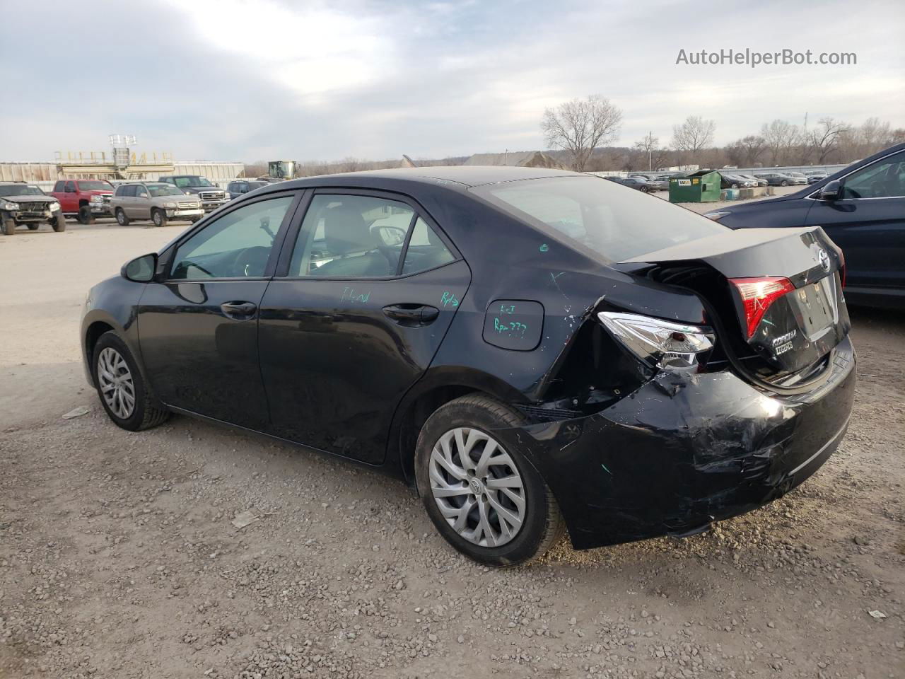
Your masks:
<instances>
[{"instance_id":1,"label":"whole rear wheel of the black Corolla, tire included","mask_svg":"<svg viewBox=\"0 0 905 679\"><path fill-rule=\"evenodd\" d=\"M418 436L415 476L428 516L452 547L489 566L536 559L565 530L547 483L493 434L523 424L499 401L471 394L438 408Z\"/></svg>"}]
</instances>

